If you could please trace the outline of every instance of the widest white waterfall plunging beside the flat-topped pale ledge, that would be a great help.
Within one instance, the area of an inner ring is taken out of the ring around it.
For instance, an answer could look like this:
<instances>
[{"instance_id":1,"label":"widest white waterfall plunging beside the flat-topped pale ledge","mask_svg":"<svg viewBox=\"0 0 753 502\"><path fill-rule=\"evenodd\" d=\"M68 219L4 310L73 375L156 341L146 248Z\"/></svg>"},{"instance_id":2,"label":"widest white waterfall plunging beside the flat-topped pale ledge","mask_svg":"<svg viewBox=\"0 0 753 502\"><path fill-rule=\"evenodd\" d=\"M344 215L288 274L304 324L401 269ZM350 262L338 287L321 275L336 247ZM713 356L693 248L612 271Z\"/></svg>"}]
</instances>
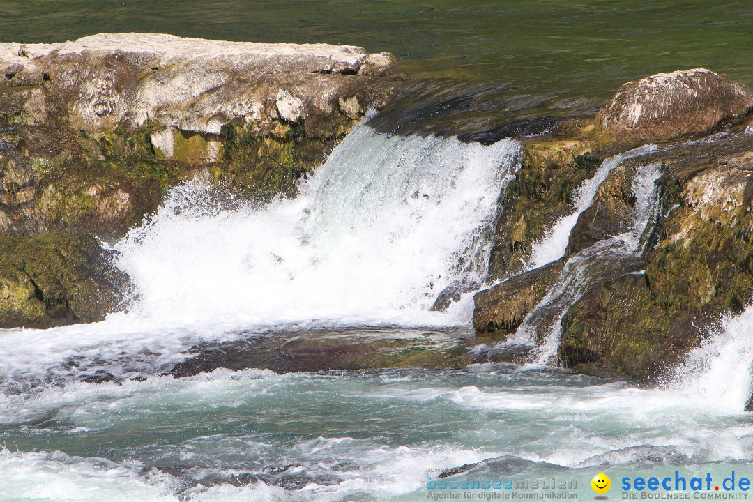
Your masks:
<instances>
[{"instance_id":1,"label":"widest white waterfall plunging beside the flat-topped pale ledge","mask_svg":"<svg viewBox=\"0 0 753 502\"><path fill-rule=\"evenodd\" d=\"M469 305L428 311L453 281L485 280L519 154L510 139L487 147L361 124L295 199L221 210L197 204L206 188L181 187L116 246L139 291L130 315L239 328L463 324Z\"/></svg>"}]
</instances>

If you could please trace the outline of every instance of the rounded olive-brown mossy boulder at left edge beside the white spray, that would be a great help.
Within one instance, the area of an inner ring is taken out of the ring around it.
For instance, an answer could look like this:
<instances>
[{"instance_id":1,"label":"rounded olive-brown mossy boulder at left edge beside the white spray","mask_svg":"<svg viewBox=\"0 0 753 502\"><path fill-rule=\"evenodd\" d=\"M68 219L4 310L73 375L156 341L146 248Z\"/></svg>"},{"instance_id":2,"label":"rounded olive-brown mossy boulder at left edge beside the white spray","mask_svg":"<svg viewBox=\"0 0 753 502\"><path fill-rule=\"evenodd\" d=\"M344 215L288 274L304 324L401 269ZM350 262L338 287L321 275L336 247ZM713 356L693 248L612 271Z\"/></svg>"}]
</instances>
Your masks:
<instances>
[{"instance_id":1,"label":"rounded olive-brown mossy boulder at left edge beside the white spray","mask_svg":"<svg viewBox=\"0 0 753 502\"><path fill-rule=\"evenodd\" d=\"M93 237L0 237L0 327L46 328L102 321L128 281Z\"/></svg>"}]
</instances>

